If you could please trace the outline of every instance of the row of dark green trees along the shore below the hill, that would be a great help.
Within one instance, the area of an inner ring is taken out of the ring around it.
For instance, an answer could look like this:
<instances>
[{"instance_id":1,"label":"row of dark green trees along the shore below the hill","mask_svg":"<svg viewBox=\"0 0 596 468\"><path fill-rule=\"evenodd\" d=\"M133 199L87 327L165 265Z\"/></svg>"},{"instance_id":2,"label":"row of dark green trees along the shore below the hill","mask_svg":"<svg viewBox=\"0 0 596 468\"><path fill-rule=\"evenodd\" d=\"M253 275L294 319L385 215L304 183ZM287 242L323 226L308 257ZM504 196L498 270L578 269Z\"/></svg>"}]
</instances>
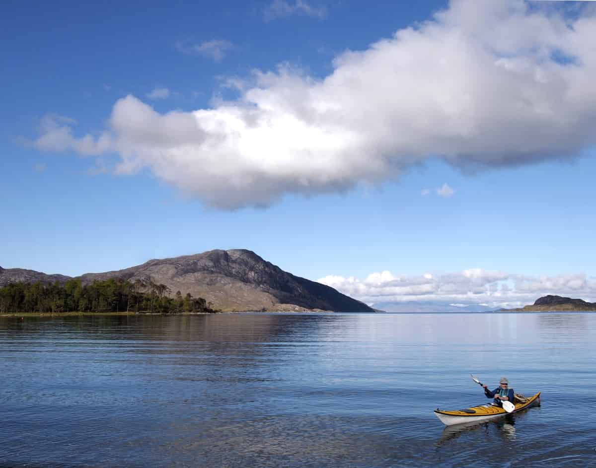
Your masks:
<instances>
[{"instance_id":1,"label":"row of dark green trees along the shore below the hill","mask_svg":"<svg viewBox=\"0 0 596 468\"><path fill-rule=\"evenodd\" d=\"M182 295L153 280L107 279L82 285L80 279L64 284L10 283L0 288L0 313L59 312L216 312L213 304L190 293Z\"/></svg>"}]
</instances>

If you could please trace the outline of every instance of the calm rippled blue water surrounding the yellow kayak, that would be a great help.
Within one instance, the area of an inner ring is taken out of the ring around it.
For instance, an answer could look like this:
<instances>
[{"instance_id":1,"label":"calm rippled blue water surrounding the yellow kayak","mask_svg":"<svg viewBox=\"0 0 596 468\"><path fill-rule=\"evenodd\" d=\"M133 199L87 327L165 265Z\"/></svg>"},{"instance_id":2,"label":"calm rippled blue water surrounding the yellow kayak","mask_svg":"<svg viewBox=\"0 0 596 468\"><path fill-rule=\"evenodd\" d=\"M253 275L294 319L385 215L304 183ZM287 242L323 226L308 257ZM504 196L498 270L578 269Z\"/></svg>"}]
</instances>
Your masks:
<instances>
[{"instance_id":1,"label":"calm rippled blue water surrounding the yellow kayak","mask_svg":"<svg viewBox=\"0 0 596 468\"><path fill-rule=\"evenodd\" d=\"M589 313L0 319L0 466L596 466L595 338ZM470 373L542 406L444 429L489 401Z\"/></svg>"}]
</instances>

